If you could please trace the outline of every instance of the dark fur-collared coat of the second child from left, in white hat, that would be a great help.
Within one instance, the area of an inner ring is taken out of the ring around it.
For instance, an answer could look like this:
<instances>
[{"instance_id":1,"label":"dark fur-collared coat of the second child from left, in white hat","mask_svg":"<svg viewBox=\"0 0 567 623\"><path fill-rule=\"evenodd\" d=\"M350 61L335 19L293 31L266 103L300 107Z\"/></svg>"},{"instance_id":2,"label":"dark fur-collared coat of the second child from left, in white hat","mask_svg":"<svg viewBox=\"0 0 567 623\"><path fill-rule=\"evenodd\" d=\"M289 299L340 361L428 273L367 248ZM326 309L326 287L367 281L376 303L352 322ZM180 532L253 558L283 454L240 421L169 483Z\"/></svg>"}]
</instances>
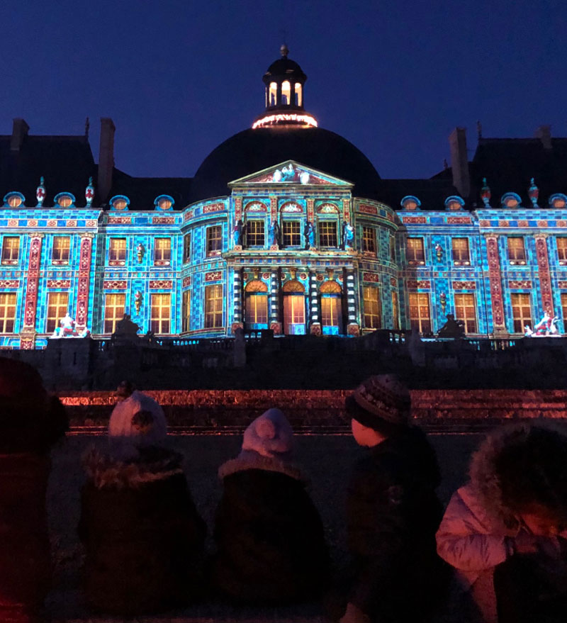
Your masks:
<instances>
[{"instance_id":1,"label":"dark fur-collared coat of the second child from left, in white hat","mask_svg":"<svg viewBox=\"0 0 567 623\"><path fill-rule=\"evenodd\" d=\"M158 448L135 461L91 451L82 490L86 597L97 610L140 614L177 605L198 590L206 527L181 456Z\"/></svg>"}]
</instances>

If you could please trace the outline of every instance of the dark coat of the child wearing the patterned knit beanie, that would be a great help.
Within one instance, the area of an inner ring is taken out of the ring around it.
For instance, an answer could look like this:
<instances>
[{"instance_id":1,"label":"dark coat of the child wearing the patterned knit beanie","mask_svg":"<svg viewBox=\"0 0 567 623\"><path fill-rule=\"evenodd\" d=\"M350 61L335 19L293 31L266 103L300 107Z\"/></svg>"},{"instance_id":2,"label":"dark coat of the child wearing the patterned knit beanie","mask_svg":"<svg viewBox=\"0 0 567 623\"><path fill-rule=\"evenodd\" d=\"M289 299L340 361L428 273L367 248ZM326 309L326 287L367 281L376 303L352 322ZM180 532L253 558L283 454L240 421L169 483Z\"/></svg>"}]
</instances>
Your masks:
<instances>
[{"instance_id":1,"label":"dark coat of the child wearing the patterned knit beanie","mask_svg":"<svg viewBox=\"0 0 567 623\"><path fill-rule=\"evenodd\" d=\"M372 620L422 620L442 590L438 484L434 450L414 427L371 448L354 467L347 493L349 600Z\"/></svg>"}]
</instances>

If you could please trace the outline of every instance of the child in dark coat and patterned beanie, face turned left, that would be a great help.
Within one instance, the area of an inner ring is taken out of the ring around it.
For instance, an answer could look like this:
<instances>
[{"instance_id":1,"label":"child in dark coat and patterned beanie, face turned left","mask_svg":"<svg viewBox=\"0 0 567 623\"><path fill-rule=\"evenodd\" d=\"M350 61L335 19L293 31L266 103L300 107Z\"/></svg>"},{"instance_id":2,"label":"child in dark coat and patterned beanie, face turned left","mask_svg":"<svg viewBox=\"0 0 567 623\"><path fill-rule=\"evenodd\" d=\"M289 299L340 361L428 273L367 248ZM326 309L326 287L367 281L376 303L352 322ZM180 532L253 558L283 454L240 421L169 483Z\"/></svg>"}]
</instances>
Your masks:
<instances>
[{"instance_id":1,"label":"child in dark coat and patterned beanie, face turned left","mask_svg":"<svg viewBox=\"0 0 567 623\"><path fill-rule=\"evenodd\" d=\"M425 621L447 575L435 552L442 507L434 450L410 426L410 395L394 376L368 378L346 407L354 439L368 452L347 491L353 579L340 621Z\"/></svg>"}]
</instances>

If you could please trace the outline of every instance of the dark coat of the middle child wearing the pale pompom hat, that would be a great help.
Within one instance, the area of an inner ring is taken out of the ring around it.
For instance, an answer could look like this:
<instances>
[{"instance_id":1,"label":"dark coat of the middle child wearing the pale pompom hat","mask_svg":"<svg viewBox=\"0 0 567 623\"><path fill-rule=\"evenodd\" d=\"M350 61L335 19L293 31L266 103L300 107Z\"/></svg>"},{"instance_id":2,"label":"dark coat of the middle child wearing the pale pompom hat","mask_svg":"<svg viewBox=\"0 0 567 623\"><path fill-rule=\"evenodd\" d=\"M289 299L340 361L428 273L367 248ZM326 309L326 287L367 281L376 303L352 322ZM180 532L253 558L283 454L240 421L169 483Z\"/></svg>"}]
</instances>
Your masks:
<instances>
[{"instance_id":1,"label":"dark coat of the middle child wearing the pale pompom hat","mask_svg":"<svg viewBox=\"0 0 567 623\"><path fill-rule=\"evenodd\" d=\"M215 584L240 602L284 603L320 595L329 576L323 527L301 473L255 452L220 467Z\"/></svg>"}]
</instances>

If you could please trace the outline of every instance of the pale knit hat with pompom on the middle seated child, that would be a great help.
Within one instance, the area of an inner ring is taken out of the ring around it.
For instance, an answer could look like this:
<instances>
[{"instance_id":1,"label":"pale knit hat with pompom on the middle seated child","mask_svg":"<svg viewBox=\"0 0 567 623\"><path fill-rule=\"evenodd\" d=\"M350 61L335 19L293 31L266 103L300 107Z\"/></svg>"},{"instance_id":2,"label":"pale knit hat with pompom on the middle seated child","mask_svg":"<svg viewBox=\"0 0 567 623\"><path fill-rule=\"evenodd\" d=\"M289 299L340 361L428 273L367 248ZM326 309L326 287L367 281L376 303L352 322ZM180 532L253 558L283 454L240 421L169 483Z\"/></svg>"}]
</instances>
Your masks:
<instances>
[{"instance_id":1,"label":"pale knit hat with pompom on the middle seated child","mask_svg":"<svg viewBox=\"0 0 567 623\"><path fill-rule=\"evenodd\" d=\"M245 430L242 453L254 451L271 459L285 459L291 452L292 438L293 430L286 416L279 409L268 409Z\"/></svg>"}]
</instances>

